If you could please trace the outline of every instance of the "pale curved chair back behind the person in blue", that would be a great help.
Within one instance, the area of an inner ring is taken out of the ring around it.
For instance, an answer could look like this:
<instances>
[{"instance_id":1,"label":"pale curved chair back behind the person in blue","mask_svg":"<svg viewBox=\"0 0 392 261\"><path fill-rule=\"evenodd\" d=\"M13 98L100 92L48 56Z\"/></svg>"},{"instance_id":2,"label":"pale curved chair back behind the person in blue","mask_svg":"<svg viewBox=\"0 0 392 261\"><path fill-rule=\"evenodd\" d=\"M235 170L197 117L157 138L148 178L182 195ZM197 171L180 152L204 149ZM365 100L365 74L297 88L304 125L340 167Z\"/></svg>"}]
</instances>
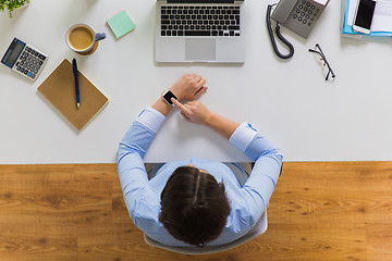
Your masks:
<instances>
[{"instance_id":1,"label":"pale curved chair back behind the person in blue","mask_svg":"<svg viewBox=\"0 0 392 261\"><path fill-rule=\"evenodd\" d=\"M152 247L166 249L166 250L169 250L172 252L179 252L179 253L184 253L184 254L208 254L208 253L223 252L223 251L228 251L232 248L235 248L235 247L264 234L267 231L267 227L268 227L268 222L267 222L267 210L266 210L266 212L264 212L264 214L261 215L259 221L255 224L255 226L246 235L244 235L243 237L241 237L232 243L229 243L229 244L222 245L222 246L206 246L203 248L199 248L199 247L171 247L171 246L166 246L159 241L156 241L156 240L149 238L146 234L144 234L144 238L148 245L150 245Z\"/></svg>"}]
</instances>

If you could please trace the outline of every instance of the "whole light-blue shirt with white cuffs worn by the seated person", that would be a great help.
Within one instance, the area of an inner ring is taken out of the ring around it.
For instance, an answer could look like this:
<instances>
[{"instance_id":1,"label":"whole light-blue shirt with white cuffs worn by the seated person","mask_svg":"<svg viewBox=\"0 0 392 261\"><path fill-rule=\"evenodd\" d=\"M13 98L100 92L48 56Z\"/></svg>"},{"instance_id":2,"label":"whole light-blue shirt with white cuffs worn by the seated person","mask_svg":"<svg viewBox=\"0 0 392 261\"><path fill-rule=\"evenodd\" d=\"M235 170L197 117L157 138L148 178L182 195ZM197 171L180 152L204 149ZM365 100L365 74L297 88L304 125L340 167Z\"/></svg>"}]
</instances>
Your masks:
<instances>
[{"instance_id":1,"label":"whole light-blue shirt with white cuffs worn by the seated person","mask_svg":"<svg viewBox=\"0 0 392 261\"><path fill-rule=\"evenodd\" d=\"M231 212L222 234L206 246L224 245L248 233L268 207L282 166L282 156L250 124L241 124L229 139L244 151L255 165L245 184L233 167L221 162L192 158L187 161L168 162L148 179L143 161L149 145L164 121L164 115L146 108L132 124L120 142L118 172L130 216L135 225L150 238L167 246L189 246L175 239L159 222L160 195L173 171L193 163L211 174L218 183L223 182ZM238 166L237 171L246 175Z\"/></svg>"}]
</instances>

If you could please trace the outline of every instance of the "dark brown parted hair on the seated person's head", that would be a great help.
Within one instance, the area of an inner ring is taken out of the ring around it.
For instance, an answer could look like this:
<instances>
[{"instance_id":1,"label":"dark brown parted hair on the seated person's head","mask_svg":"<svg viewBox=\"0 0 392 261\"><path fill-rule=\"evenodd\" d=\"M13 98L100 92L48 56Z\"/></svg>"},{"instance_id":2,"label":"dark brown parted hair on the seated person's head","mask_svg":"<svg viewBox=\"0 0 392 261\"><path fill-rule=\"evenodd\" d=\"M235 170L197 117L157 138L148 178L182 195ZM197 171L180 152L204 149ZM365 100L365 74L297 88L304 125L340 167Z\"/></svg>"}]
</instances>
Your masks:
<instances>
[{"instance_id":1,"label":"dark brown parted hair on the seated person's head","mask_svg":"<svg viewBox=\"0 0 392 261\"><path fill-rule=\"evenodd\" d=\"M174 238L201 247L222 233L230 211L222 183L196 167L181 166L162 190L159 221Z\"/></svg>"}]
</instances>

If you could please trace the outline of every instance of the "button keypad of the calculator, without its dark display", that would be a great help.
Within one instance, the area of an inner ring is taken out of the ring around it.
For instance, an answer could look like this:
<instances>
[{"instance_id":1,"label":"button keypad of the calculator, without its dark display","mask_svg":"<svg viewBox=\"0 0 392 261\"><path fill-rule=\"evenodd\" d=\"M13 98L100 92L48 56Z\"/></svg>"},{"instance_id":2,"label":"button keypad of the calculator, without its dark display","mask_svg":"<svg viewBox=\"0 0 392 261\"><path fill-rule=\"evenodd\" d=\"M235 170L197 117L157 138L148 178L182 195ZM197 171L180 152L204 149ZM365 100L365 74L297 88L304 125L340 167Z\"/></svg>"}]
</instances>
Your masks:
<instances>
[{"instance_id":1,"label":"button keypad of the calculator, without its dark display","mask_svg":"<svg viewBox=\"0 0 392 261\"><path fill-rule=\"evenodd\" d=\"M34 80L40 73L46 60L47 57L45 54L26 46L16 60L13 69Z\"/></svg>"}]
</instances>

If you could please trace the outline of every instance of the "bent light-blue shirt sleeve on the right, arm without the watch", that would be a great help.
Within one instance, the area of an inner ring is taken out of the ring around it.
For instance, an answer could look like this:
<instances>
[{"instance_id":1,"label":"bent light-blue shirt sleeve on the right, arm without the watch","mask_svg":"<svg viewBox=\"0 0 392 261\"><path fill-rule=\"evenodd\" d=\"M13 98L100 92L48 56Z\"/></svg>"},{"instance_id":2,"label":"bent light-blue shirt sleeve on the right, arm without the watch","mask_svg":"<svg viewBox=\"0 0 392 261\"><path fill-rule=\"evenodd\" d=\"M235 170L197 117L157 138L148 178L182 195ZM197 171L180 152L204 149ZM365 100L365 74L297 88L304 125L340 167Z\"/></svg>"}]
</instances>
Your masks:
<instances>
[{"instance_id":1,"label":"bent light-blue shirt sleeve on the right, arm without the watch","mask_svg":"<svg viewBox=\"0 0 392 261\"><path fill-rule=\"evenodd\" d=\"M242 192L256 222L268 208L282 169L283 157L271 141L248 123L241 124L229 141L255 161Z\"/></svg>"}]
</instances>

